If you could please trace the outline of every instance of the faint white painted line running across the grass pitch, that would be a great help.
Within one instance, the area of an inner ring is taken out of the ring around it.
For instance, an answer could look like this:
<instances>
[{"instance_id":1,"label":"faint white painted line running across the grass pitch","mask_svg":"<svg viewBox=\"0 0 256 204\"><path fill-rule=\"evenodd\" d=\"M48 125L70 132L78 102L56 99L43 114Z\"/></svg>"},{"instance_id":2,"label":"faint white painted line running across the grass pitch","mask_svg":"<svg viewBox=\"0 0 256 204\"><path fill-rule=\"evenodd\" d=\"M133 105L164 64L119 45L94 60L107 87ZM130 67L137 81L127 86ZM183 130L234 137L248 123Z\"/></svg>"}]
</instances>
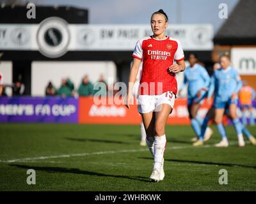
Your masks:
<instances>
[{"instance_id":1,"label":"faint white painted line running across the grass pitch","mask_svg":"<svg viewBox=\"0 0 256 204\"><path fill-rule=\"evenodd\" d=\"M232 145L234 143L230 143ZM208 148L214 147L214 145L204 145L200 147L191 146L174 146L167 147L167 150L175 150L175 149L190 149L190 148ZM91 153L81 153L81 154L61 154L57 156L40 156L40 157L27 157L21 159L10 159L10 160L0 160L0 163L15 163L15 162L25 162L25 161L35 161L35 160L44 160L44 159L58 159L58 158L69 158L69 157L83 157L83 156L92 156L92 155L100 155L100 154L117 154L117 153L127 153L127 152L146 152L148 149L126 149L126 150L117 150L117 151L104 151L104 152L91 152Z\"/></svg>"}]
</instances>

